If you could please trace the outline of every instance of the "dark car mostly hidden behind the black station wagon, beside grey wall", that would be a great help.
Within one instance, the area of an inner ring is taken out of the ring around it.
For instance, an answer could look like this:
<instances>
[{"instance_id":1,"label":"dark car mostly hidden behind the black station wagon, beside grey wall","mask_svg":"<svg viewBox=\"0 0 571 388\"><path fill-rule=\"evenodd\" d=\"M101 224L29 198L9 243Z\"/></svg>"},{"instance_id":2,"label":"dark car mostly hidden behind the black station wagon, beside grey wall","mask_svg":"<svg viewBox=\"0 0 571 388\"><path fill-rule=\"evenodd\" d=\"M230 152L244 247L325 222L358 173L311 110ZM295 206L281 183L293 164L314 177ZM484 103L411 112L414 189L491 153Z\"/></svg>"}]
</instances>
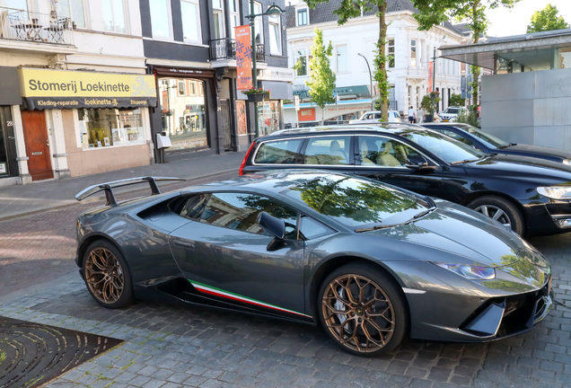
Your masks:
<instances>
[{"instance_id":1,"label":"dark car mostly hidden behind the black station wagon, beside grey wall","mask_svg":"<svg viewBox=\"0 0 571 388\"><path fill-rule=\"evenodd\" d=\"M507 154L516 156L530 156L553 162L571 165L571 153L558 148L549 148L539 145L520 145L508 143L499 137L490 135L483 130L468 124L422 124L448 137L455 138L465 145L478 148L484 154Z\"/></svg>"}]
</instances>

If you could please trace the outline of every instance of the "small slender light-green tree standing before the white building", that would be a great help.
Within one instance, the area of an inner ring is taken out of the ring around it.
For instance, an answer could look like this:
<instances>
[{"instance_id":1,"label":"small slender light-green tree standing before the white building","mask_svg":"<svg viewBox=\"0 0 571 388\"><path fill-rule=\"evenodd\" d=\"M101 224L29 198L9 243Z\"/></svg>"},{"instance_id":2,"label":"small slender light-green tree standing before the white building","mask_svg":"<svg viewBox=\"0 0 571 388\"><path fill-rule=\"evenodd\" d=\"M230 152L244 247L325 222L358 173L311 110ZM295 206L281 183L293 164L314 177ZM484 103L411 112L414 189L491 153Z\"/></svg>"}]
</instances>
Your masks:
<instances>
[{"instance_id":1,"label":"small slender light-green tree standing before the white building","mask_svg":"<svg viewBox=\"0 0 571 388\"><path fill-rule=\"evenodd\" d=\"M328 103L334 103L333 89L337 76L331 70L329 58L333 55L333 46L323 44L323 31L315 29L313 38L312 60L310 61L310 81L305 81L310 87L309 94L312 102L321 108L321 125L323 125L323 108Z\"/></svg>"}]
</instances>

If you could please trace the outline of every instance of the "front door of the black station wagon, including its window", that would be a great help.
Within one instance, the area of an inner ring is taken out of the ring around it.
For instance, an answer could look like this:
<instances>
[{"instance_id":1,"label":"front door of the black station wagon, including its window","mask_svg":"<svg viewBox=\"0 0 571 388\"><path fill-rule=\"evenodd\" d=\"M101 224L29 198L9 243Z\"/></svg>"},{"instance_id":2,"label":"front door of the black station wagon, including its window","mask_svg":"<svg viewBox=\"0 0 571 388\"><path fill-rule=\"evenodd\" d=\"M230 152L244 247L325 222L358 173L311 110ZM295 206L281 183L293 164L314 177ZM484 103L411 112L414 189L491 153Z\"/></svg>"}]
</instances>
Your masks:
<instances>
[{"instance_id":1,"label":"front door of the black station wagon, including its window","mask_svg":"<svg viewBox=\"0 0 571 388\"><path fill-rule=\"evenodd\" d=\"M356 175L373 178L432 197L442 197L442 169L425 155L400 140L376 135L358 136L355 141ZM425 160L432 172L406 167Z\"/></svg>"}]
</instances>

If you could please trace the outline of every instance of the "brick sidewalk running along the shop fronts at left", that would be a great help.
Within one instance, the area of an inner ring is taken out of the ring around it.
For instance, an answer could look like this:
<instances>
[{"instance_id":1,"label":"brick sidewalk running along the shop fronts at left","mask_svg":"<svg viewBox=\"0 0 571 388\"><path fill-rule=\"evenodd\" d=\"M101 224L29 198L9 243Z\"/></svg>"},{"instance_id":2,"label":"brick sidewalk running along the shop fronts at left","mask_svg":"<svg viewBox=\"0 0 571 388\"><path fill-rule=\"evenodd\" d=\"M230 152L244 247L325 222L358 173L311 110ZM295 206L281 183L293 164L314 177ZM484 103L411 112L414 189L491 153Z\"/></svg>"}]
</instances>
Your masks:
<instances>
[{"instance_id":1,"label":"brick sidewalk running along the shop fronts at left","mask_svg":"<svg viewBox=\"0 0 571 388\"><path fill-rule=\"evenodd\" d=\"M76 205L75 194L96 183L119 181L139 176L171 176L186 178L189 186L198 178L215 176L226 172L238 173L245 153L227 153L220 155L199 156L197 154L180 154L171 157L171 162L151 164L130 169L103 172L66 180L37 181L28 185L16 185L0 188L0 220L13 216L37 213L50 208ZM162 183L161 186L167 185ZM178 185L183 187L184 185ZM174 188L172 185L168 189ZM120 190L138 190L141 186ZM86 199L89 200L89 199ZM2 229L0 229L2 231Z\"/></svg>"}]
</instances>

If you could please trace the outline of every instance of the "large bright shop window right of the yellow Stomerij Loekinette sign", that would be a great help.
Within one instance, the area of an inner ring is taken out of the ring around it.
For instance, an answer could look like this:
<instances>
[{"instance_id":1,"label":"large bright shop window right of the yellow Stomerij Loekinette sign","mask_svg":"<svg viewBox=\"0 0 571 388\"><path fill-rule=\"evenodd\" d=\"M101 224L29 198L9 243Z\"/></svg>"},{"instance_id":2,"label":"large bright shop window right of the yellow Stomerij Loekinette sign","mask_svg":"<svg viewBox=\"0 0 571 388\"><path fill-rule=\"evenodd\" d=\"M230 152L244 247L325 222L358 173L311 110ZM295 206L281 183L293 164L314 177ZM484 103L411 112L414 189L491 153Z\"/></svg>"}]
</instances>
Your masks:
<instances>
[{"instance_id":1,"label":"large bright shop window right of the yellow Stomerij Loekinette sign","mask_svg":"<svg viewBox=\"0 0 571 388\"><path fill-rule=\"evenodd\" d=\"M154 133L163 132L171 138L171 147L166 151L199 151L213 147L212 139L216 138L215 126L211 124L216 122L212 92L214 71L159 66L153 70L159 96L159 108L154 110L153 117Z\"/></svg>"}]
</instances>

